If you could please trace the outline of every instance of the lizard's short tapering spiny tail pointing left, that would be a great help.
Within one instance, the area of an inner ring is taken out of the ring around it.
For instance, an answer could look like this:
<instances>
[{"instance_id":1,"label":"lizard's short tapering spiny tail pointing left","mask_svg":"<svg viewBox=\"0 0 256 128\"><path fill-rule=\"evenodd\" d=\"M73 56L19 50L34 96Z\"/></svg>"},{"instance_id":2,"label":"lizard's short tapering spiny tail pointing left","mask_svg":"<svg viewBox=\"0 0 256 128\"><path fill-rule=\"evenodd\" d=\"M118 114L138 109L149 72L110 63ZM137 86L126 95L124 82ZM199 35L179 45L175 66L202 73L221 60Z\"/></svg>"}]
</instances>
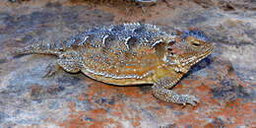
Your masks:
<instances>
[{"instance_id":1,"label":"lizard's short tapering spiny tail pointing left","mask_svg":"<svg viewBox=\"0 0 256 128\"><path fill-rule=\"evenodd\" d=\"M58 56L61 54L63 47L58 47L56 43L33 43L27 47L18 49L12 52L12 55L26 55L26 54L48 54Z\"/></svg>"}]
</instances>

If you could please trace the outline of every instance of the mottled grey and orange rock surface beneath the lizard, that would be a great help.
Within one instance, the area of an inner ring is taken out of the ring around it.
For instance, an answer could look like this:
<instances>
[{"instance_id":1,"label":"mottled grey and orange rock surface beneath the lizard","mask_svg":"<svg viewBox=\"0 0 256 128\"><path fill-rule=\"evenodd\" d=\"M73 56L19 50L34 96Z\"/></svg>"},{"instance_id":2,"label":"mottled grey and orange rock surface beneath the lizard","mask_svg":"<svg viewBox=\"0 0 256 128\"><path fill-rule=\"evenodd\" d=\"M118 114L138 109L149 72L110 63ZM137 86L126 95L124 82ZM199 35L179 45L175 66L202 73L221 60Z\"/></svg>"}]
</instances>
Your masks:
<instances>
[{"instance_id":1,"label":"mottled grey and orange rock surface beneath the lizard","mask_svg":"<svg viewBox=\"0 0 256 128\"><path fill-rule=\"evenodd\" d=\"M143 11L144 10L144 11ZM13 57L36 41L63 41L94 26L140 22L197 28L215 51L173 88L196 106L162 102L151 86L114 87L80 74L43 78L54 57ZM109 0L4 0L0 3L2 127L256 127L256 2L162 0L141 7Z\"/></svg>"}]
</instances>

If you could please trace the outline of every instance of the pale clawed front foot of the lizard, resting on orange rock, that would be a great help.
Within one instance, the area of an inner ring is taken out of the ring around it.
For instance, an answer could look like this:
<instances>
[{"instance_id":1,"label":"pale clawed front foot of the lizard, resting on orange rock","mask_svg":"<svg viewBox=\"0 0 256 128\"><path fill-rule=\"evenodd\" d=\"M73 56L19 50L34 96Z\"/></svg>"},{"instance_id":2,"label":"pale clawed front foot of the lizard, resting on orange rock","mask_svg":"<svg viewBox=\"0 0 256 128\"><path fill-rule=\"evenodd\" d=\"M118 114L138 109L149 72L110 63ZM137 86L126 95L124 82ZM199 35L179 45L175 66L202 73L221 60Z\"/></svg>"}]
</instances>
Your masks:
<instances>
[{"instance_id":1,"label":"pale clawed front foot of the lizard, resting on orange rock","mask_svg":"<svg viewBox=\"0 0 256 128\"><path fill-rule=\"evenodd\" d=\"M179 96L177 102L182 103L183 105L186 105L186 103L195 105L197 102L199 102L199 99L196 96L181 95L181 96Z\"/></svg>"}]
</instances>

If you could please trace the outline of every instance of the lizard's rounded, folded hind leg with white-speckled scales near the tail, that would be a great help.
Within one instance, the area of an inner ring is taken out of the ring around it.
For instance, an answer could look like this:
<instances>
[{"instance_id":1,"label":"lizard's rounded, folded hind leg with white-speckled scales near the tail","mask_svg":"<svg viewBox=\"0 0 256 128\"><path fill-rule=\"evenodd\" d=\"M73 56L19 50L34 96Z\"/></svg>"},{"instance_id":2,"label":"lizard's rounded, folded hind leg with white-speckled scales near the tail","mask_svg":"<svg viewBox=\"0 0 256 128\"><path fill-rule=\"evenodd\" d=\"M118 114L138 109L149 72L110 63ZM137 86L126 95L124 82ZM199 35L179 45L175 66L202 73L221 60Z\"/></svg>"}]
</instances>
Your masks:
<instances>
[{"instance_id":1,"label":"lizard's rounded, folded hind leg with white-speckled scales near the tail","mask_svg":"<svg viewBox=\"0 0 256 128\"><path fill-rule=\"evenodd\" d=\"M57 63L69 73L78 73L81 70L80 55L77 52L65 52L59 55Z\"/></svg>"}]
</instances>

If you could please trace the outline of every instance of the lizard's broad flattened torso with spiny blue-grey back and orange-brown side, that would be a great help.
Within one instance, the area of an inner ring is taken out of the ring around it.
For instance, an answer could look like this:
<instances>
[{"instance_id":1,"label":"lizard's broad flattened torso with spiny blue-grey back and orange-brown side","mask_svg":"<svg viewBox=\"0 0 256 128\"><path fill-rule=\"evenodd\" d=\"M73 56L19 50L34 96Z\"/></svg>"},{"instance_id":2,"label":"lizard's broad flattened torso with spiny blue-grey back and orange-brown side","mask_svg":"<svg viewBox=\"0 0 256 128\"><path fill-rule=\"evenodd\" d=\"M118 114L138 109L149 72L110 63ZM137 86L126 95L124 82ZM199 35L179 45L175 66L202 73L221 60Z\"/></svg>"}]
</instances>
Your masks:
<instances>
[{"instance_id":1,"label":"lizard's broad flattened torso with spiny blue-grey back and orange-brown side","mask_svg":"<svg viewBox=\"0 0 256 128\"><path fill-rule=\"evenodd\" d=\"M164 70L163 40L171 37L153 25L123 24L83 32L65 45L91 78L120 86L153 84L158 70Z\"/></svg>"}]
</instances>

